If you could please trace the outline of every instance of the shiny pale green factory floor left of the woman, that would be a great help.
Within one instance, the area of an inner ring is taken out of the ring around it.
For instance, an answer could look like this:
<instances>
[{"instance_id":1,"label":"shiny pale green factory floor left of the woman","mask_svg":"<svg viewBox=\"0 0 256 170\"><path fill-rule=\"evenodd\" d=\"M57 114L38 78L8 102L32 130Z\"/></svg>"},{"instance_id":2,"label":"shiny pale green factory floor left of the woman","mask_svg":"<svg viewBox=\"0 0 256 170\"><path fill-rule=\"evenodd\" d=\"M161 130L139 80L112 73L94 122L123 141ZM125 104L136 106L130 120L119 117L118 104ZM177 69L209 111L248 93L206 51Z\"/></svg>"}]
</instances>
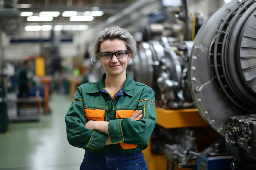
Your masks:
<instances>
[{"instance_id":1,"label":"shiny pale green factory floor left of the woman","mask_svg":"<svg viewBox=\"0 0 256 170\"><path fill-rule=\"evenodd\" d=\"M69 95L53 93L51 114L9 123L0 133L0 170L78 170L84 150L68 143L64 120L71 102Z\"/></svg>"}]
</instances>

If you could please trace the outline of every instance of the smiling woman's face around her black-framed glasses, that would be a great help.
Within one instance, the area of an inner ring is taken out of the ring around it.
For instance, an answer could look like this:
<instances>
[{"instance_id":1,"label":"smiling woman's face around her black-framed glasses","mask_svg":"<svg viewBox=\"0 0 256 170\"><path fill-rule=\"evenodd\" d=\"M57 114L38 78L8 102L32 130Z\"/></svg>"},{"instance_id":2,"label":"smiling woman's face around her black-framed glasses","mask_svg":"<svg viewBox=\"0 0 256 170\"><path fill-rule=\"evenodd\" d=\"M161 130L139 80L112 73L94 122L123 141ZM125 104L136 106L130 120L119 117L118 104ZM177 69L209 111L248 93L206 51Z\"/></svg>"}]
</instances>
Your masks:
<instances>
[{"instance_id":1,"label":"smiling woman's face around her black-framed glasses","mask_svg":"<svg viewBox=\"0 0 256 170\"><path fill-rule=\"evenodd\" d=\"M127 50L125 43L123 40L114 39L114 40L106 40L101 43L100 52L117 52L121 50ZM126 73L126 67L128 65L128 61L130 61L130 52L123 58L118 59L115 55L113 55L112 59L103 59L99 56L99 61L103 65L103 68L106 71L106 74L109 75L121 75Z\"/></svg>"}]
</instances>

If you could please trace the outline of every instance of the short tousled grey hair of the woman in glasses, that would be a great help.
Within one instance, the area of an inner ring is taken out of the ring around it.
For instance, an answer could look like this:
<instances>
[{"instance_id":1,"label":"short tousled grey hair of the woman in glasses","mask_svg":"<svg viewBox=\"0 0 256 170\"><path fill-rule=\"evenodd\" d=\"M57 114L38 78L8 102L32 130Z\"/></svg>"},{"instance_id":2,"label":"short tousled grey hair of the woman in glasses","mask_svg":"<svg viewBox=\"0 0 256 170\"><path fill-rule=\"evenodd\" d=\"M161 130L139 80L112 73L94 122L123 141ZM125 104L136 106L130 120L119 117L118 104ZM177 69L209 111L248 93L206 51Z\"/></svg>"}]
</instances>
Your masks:
<instances>
[{"instance_id":1,"label":"short tousled grey hair of the woman in glasses","mask_svg":"<svg viewBox=\"0 0 256 170\"><path fill-rule=\"evenodd\" d=\"M126 48L130 51L130 58L133 60L137 53L137 44L133 36L124 28L119 26L102 29L91 48L91 62L95 62L98 59L98 53L100 52L101 43L106 40L119 39L123 40Z\"/></svg>"}]
</instances>

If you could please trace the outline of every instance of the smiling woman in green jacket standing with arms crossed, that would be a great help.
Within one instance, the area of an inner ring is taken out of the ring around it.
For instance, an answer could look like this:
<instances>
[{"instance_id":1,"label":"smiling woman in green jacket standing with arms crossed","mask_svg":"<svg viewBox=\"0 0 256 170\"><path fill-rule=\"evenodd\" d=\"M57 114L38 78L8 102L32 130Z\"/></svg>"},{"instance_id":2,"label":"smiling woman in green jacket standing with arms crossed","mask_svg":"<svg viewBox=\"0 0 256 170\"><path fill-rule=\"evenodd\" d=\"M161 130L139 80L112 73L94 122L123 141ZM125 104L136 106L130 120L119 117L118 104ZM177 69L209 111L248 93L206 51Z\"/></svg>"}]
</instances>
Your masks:
<instances>
[{"instance_id":1,"label":"smiling woman in green jacket standing with arms crossed","mask_svg":"<svg viewBox=\"0 0 256 170\"><path fill-rule=\"evenodd\" d=\"M105 72L77 88L65 116L67 139L85 149L80 170L148 169L142 154L156 123L154 91L126 74L136 41L120 27L101 30L92 47Z\"/></svg>"}]
</instances>

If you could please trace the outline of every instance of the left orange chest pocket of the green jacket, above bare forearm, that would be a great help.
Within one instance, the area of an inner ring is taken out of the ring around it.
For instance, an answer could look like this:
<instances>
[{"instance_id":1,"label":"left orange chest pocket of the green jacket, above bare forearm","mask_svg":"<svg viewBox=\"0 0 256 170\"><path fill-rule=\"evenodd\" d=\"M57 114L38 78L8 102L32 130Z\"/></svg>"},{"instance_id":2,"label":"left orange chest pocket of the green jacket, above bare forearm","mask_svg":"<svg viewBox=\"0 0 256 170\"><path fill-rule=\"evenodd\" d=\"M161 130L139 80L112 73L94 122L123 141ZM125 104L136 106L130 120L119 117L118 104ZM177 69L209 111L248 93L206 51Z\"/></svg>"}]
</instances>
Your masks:
<instances>
[{"instance_id":1,"label":"left orange chest pocket of the green jacket, above bare forearm","mask_svg":"<svg viewBox=\"0 0 256 170\"><path fill-rule=\"evenodd\" d=\"M104 121L105 110L102 109L84 109L87 120Z\"/></svg>"}]
</instances>

